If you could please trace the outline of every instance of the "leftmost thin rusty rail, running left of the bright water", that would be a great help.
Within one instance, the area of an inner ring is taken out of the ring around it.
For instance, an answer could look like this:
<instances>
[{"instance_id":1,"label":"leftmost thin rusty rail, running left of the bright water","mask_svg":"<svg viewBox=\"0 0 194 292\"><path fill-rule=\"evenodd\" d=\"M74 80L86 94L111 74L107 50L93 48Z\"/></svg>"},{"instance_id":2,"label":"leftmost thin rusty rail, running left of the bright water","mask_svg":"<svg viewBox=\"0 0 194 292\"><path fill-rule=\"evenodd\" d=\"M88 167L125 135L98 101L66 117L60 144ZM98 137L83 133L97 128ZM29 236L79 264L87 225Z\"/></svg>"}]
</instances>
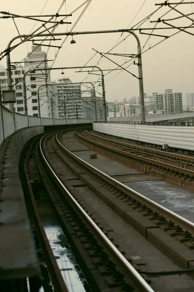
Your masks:
<instances>
[{"instance_id":1,"label":"leftmost thin rusty rail, running left of the bright water","mask_svg":"<svg viewBox=\"0 0 194 292\"><path fill-rule=\"evenodd\" d=\"M27 153L27 156L26 156L26 159L24 162L24 172L25 172L25 176L26 176L30 201L31 201L31 204L33 207L32 210L33 210L35 225L36 225L37 232L38 232L39 242L40 242L40 246L42 249L42 253L43 253L47 268L48 268L49 275L51 277L51 281L52 281L54 290L58 291L58 292L68 292L67 286L64 282L64 279L63 279L62 274L60 272L60 269L58 267L58 263L56 261L54 254L53 254L52 248L49 244L49 240L46 236L41 218L39 216L39 211L37 208L36 201L34 199L32 186L31 186L31 183L30 183L30 180L28 177L27 165L28 165L28 161L29 161L29 157L30 157L33 145L34 145L34 143L30 146L30 149Z\"/></svg>"}]
</instances>

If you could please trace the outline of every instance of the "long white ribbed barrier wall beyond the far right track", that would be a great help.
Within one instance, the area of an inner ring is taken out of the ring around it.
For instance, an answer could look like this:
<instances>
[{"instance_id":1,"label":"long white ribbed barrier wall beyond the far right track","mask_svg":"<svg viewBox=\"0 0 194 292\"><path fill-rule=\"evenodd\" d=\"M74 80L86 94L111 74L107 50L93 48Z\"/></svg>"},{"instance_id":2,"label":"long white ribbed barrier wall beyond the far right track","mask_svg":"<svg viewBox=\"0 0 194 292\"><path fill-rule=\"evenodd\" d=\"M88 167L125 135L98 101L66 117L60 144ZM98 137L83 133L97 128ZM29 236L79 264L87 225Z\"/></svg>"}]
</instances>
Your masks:
<instances>
[{"instance_id":1,"label":"long white ribbed barrier wall beyond the far right track","mask_svg":"<svg viewBox=\"0 0 194 292\"><path fill-rule=\"evenodd\" d=\"M93 123L93 129L126 139L194 150L194 127Z\"/></svg>"}]
</instances>

